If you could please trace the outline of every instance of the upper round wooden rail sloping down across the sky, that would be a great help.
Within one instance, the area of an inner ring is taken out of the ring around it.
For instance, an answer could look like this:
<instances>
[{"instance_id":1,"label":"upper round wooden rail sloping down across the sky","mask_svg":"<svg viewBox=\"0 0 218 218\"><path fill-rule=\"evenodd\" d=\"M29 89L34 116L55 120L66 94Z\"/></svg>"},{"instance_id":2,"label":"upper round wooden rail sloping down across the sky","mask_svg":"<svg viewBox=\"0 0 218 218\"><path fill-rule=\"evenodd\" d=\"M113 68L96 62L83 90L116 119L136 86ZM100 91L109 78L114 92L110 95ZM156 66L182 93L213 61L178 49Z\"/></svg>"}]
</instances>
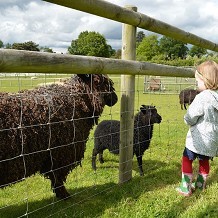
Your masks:
<instances>
[{"instance_id":1,"label":"upper round wooden rail sloping down across the sky","mask_svg":"<svg viewBox=\"0 0 218 218\"><path fill-rule=\"evenodd\" d=\"M44 0L68 8L80 10L100 17L108 18L121 23L130 24L145 30L169 36L184 43L197 45L218 52L218 44L185 32L177 27L159 21L145 14L120 7L103 0ZM140 10L140 8L138 9ZM70 18L69 18L70 19Z\"/></svg>"}]
</instances>

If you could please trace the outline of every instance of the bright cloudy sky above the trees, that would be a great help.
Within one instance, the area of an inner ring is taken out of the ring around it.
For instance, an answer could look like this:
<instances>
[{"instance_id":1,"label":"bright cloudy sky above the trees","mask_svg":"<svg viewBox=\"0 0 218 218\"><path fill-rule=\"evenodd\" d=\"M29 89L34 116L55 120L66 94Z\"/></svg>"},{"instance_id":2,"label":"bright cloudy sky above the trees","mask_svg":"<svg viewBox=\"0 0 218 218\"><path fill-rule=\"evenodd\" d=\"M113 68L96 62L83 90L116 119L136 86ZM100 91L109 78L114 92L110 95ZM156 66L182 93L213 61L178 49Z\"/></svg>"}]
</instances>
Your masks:
<instances>
[{"instance_id":1,"label":"bright cloudy sky above the trees","mask_svg":"<svg viewBox=\"0 0 218 218\"><path fill-rule=\"evenodd\" d=\"M79 1L79 0L78 0ZM217 0L108 0L218 43ZM0 40L33 41L39 46L67 53L72 40L83 31L102 34L113 49L121 49L122 24L41 0L0 0ZM137 31L151 32L138 28Z\"/></svg>"}]
</instances>

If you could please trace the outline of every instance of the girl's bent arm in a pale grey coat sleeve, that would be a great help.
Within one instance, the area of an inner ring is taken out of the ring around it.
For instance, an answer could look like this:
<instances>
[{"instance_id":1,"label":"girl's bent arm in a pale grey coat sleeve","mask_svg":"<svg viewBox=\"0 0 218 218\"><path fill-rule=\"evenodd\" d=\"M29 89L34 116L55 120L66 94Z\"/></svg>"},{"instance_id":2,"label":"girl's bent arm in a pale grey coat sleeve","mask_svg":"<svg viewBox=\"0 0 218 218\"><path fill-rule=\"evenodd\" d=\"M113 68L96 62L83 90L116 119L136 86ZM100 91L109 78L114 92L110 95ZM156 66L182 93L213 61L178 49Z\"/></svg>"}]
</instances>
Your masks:
<instances>
[{"instance_id":1,"label":"girl's bent arm in a pale grey coat sleeve","mask_svg":"<svg viewBox=\"0 0 218 218\"><path fill-rule=\"evenodd\" d=\"M186 124L193 126L197 123L199 117L204 115L202 95L196 95L194 101L190 104L187 113L184 116Z\"/></svg>"}]
</instances>

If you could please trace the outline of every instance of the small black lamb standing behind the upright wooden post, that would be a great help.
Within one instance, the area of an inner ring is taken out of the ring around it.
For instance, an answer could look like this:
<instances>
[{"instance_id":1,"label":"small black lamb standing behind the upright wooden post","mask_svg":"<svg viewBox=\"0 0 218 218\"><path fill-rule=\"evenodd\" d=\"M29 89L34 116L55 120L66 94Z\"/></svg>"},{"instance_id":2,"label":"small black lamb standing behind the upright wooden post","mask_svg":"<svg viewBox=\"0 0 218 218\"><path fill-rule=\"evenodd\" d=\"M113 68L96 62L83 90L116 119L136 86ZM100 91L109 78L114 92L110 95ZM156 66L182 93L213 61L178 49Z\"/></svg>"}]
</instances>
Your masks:
<instances>
[{"instance_id":1,"label":"small black lamb standing behind the upright wooden post","mask_svg":"<svg viewBox=\"0 0 218 218\"><path fill-rule=\"evenodd\" d=\"M133 155L138 161L140 175L143 176L142 156L149 148L153 134L154 123L160 123L161 116L155 106L142 105L134 117ZM104 163L103 151L108 149L113 154L119 154L120 121L104 120L98 124L94 132L94 149L92 153L92 168L96 170L96 156Z\"/></svg>"}]
</instances>

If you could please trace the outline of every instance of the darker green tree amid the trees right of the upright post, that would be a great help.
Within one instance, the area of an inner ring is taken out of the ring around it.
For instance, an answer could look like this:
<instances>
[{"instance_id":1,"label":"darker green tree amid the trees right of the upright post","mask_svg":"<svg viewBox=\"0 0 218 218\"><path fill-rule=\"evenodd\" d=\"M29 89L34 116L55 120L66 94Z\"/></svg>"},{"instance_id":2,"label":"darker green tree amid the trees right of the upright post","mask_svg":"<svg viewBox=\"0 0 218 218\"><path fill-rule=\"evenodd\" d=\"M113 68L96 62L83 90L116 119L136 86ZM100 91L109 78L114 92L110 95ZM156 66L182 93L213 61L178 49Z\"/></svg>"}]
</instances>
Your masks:
<instances>
[{"instance_id":1,"label":"darker green tree amid the trees right of the upright post","mask_svg":"<svg viewBox=\"0 0 218 218\"><path fill-rule=\"evenodd\" d=\"M160 52L169 59L185 58L188 53L188 47L181 41L163 36L160 39Z\"/></svg>"}]
</instances>

